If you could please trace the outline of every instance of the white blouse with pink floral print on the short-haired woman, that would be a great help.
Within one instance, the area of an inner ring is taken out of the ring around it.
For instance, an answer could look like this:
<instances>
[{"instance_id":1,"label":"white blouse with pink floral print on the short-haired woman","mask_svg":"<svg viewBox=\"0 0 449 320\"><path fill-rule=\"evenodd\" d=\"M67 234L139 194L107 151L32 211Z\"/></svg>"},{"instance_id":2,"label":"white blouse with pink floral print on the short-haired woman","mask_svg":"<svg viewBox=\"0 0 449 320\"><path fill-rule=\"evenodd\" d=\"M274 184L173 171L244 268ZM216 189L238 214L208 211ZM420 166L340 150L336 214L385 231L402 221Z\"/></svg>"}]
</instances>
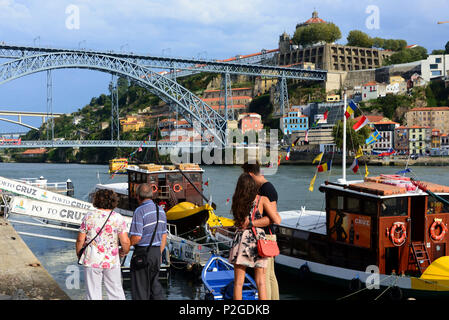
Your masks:
<instances>
[{"instance_id":1,"label":"white blouse with pink floral print on the short-haired woman","mask_svg":"<svg viewBox=\"0 0 449 320\"><path fill-rule=\"evenodd\" d=\"M110 211L96 210L84 216L79 231L86 234L86 244L100 231ZM98 237L86 248L82 256L85 267L111 269L120 267L119 234L127 232L122 215L112 212Z\"/></svg>"}]
</instances>

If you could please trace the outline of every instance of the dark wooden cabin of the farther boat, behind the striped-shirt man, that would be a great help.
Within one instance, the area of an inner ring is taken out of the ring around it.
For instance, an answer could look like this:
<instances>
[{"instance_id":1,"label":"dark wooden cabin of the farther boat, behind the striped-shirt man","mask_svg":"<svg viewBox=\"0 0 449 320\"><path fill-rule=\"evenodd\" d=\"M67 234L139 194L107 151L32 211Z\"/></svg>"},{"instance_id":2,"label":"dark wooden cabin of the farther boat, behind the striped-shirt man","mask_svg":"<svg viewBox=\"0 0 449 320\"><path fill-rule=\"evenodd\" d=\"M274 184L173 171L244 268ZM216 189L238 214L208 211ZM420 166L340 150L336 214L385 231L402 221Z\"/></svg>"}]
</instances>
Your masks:
<instances>
[{"instance_id":1,"label":"dark wooden cabin of the farther boat, behind the striped-shirt man","mask_svg":"<svg viewBox=\"0 0 449 320\"><path fill-rule=\"evenodd\" d=\"M153 200L166 211L184 201L198 206L203 205L200 193L203 192L204 171L197 164L177 166L142 164L128 166L127 171L130 210L138 207L136 190L142 183L150 184L153 189Z\"/></svg>"}]
</instances>

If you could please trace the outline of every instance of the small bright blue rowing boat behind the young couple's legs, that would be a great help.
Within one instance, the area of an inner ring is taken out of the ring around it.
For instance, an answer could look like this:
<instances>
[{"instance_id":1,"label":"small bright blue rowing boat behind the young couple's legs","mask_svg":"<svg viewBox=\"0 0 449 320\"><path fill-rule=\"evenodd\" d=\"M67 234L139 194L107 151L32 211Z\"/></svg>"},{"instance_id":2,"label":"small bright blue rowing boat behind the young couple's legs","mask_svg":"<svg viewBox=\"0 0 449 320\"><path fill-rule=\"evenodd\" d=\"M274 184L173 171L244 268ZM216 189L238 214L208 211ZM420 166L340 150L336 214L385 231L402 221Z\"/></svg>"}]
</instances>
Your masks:
<instances>
[{"instance_id":1,"label":"small bright blue rowing boat behind the young couple's legs","mask_svg":"<svg viewBox=\"0 0 449 320\"><path fill-rule=\"evenodd\" d=\"M206 291L205 300L232 299L234 283L234 266L225 258L212 255L201 272ZM243 300L257 300L257 286L253 278L246 274L242 292Z\"/></svg>"}]
</instances>

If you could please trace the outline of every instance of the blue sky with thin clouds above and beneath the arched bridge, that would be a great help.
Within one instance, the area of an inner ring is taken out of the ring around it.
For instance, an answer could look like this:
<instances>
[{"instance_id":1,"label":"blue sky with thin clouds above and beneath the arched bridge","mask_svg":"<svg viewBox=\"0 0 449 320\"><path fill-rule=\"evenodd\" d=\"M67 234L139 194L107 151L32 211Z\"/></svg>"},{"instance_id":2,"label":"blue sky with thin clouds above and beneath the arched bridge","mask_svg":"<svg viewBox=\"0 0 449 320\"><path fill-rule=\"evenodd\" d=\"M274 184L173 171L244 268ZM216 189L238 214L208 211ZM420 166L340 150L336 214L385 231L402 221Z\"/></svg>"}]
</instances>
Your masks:
<instances>
[{"instance_id":1,"label":"blue sky with thin clouds above and beneath the arched bridge","mask_svg":"<svg viewBox=\"0 0 449 320\"><path fill-rule=\"evenodd\" d=\"M225 59L278 47L316 10L350 30L405 39L429 51L449 41L447 0L0 0L0 42ZM4 63L5 60L0 60ZM54 70L53 111L71 113L108 93L110 75ZM0 85L0 110L46 111L46 73ZM38 119L25 119L39 126ZM0 133L26 131L0 121Z\"/></svg>"}]
</instances>

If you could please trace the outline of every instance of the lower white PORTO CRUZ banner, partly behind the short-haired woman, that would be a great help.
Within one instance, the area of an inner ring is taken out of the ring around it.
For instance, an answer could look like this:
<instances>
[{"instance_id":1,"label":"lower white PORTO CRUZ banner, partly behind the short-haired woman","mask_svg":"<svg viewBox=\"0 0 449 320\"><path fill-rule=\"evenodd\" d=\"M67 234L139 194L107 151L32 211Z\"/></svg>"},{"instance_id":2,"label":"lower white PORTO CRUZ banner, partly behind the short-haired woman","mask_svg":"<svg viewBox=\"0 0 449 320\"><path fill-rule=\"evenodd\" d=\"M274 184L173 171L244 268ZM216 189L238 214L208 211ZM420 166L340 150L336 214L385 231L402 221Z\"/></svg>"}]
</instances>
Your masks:
<instances>
[{"instance_id":1,"label":"lower white PORTO CRUZ banner, partly behind the short-haired woman","mask_svg":"<svg viewBox=\"0 0 449 320\"><path fill-rule=\"evenodd\" d=\"M84 216L88 212L92 211L89 209L70 207L24 197L14 197L11 200L10 208L12 213L54 220L73 225L81 225ZM126 216L123 216L123 218L125 219L127 229L129 230L132 218Z\"/></svg>"}]
</instances>

